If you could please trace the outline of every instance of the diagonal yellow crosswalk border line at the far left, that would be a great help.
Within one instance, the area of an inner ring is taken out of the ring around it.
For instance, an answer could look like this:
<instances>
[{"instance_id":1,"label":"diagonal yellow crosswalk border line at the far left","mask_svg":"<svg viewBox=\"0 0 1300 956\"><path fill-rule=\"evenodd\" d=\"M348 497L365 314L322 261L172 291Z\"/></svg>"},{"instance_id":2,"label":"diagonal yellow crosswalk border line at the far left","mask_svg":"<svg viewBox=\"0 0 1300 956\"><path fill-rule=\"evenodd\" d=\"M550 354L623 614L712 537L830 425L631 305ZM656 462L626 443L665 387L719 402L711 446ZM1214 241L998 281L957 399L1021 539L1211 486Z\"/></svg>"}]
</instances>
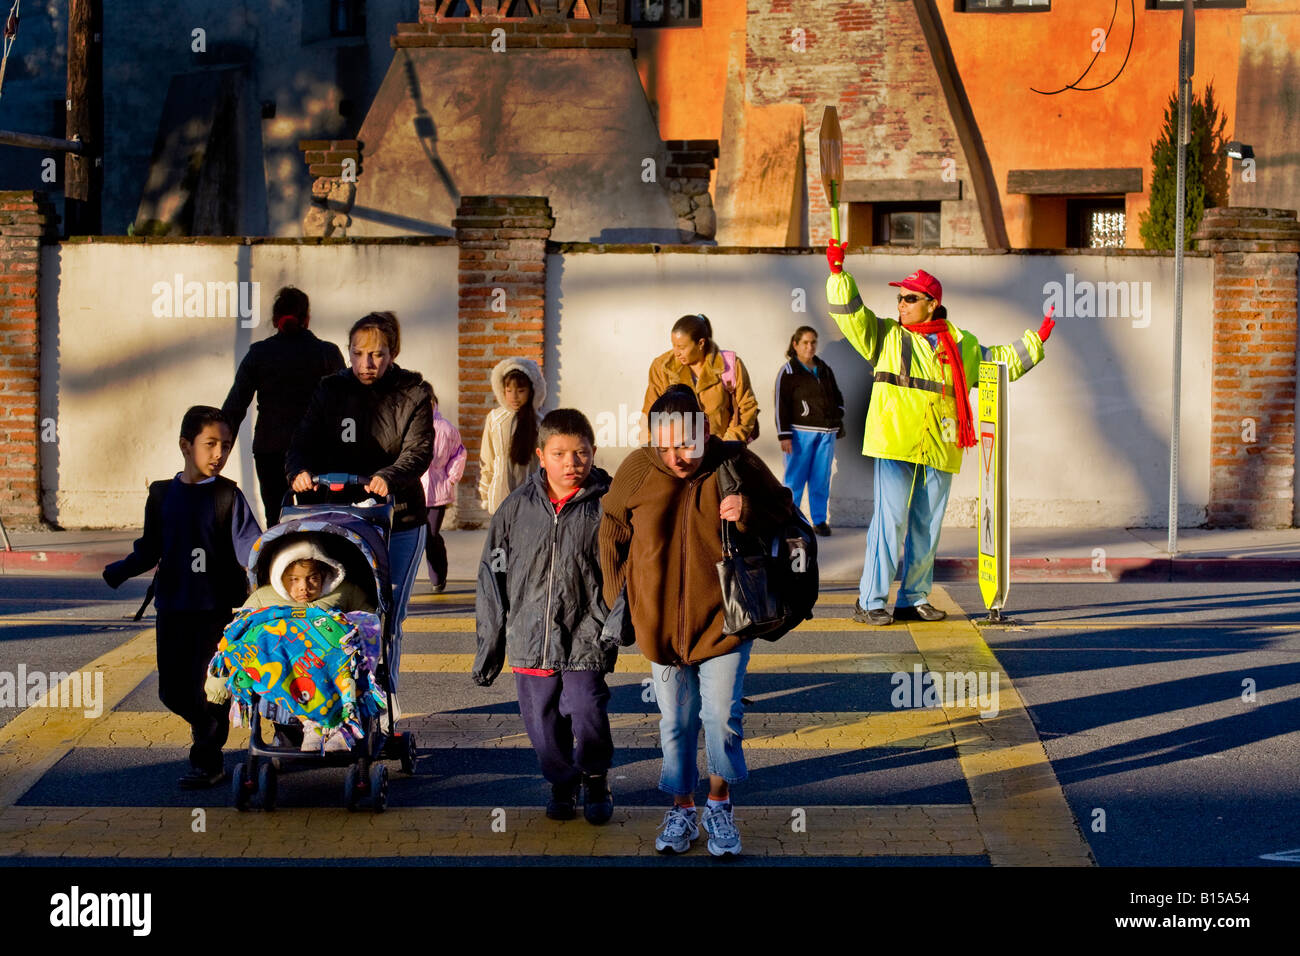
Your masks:
<instances>
[{"instance_id":1,"label":"diagonal yellow crosswalk border line at the far left","mask_svg":"<svg viewBox=\"0 0 1300 956\"><path fill-rule=\"evenodd\" d=\"M99 717L86 717L81 706L44 706L49 700L58 701L60 684L0 727L0 808L18 803L46 771L109 717L109 711L153 671L155 665L153 631L143 631L78 669L83 675L104 672Z\"/></svg>"}]
</instances>

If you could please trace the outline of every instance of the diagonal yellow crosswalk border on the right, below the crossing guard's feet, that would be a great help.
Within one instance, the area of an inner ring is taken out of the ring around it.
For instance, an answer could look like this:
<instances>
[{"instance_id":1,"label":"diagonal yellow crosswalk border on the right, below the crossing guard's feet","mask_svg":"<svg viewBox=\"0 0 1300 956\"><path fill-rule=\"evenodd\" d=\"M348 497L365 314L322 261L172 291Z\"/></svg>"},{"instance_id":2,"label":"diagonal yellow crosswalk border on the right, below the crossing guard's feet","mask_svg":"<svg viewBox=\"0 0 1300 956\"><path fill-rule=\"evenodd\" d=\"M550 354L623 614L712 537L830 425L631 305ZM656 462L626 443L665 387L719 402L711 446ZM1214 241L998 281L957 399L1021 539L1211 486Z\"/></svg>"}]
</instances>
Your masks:
<instances>
[{"instance_id":1,"label":"diagonal yellow crosswalk border on the right, below the crossing guard's feet","mask_svg":"<svg viewBox=\"0 0 1300 956\"><path fill-rule=\"evenodd\" d=\"M930 600L949 618L909 626L927 670L984 672L989 684L993 675L998 679L996 717L945 706L961 726L957 761L989 861L994 866L1093 865L1088 843L1006 671L946 591L935 585Z\"/></svg>"}]
</instances>

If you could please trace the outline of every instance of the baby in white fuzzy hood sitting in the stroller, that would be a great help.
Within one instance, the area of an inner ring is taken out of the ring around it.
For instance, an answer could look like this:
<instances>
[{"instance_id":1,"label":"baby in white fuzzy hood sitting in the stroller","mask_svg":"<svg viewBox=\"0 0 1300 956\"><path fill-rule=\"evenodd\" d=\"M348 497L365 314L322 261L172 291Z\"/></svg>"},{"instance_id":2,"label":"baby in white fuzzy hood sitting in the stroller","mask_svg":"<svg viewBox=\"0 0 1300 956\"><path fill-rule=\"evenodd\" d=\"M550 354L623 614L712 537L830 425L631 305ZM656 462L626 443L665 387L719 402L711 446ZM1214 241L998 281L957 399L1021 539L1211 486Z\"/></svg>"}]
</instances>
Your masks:
<instances>
[{"instance_id":1,"label":"baby in white fuzzy hood sitting in the stroller","mask_svg":"<svg viewBox=\"0 0 1300 956\"><path fill-rule=\"evenodd\" d=\"M330 558L313 540L296 540L280 549L272 561L269 583L254 591L240 610L259 611L269 607L330 609L341 614L350 611L374 613L374 604L355 583L347 580L343 566ZM358 615L360 617L360 615ZM209 676L209 700L229 697L226 682ZM263 698L260 713L276 727L277 744L290 745L302 727L300 750L304 753L338 752L350 749L348 740L334 734L325 736L320 727L302 715L295 715L273 701Z\"/></svg>"}]
</instances>

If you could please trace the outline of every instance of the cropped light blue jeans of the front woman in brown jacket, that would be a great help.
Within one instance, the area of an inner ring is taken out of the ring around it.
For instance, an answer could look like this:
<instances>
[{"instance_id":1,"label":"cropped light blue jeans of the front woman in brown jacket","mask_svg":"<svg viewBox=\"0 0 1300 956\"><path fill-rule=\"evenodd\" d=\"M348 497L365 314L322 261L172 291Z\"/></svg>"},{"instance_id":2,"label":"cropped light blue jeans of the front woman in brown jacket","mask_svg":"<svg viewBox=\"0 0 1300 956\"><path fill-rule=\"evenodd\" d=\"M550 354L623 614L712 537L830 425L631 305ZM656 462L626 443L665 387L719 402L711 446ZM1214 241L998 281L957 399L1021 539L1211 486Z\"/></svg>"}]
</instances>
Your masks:
<instances>
[{"instance_id":1,"label":"cropped light blue jeans of the front woman in brown jacket","mask_svg":"<svg viewBox=\"0 0 1300 956\"><path fill-rule=\"evenodd\" d=\"M694 793L699 784L699 727L705 727L708 773L727 783L748 775L741 740L745 736L745 669L751 641L722 657L682 667L650 665L659 702L659 747L663 770L659 790L673 796Z\"/></svg>"}]
</instances>

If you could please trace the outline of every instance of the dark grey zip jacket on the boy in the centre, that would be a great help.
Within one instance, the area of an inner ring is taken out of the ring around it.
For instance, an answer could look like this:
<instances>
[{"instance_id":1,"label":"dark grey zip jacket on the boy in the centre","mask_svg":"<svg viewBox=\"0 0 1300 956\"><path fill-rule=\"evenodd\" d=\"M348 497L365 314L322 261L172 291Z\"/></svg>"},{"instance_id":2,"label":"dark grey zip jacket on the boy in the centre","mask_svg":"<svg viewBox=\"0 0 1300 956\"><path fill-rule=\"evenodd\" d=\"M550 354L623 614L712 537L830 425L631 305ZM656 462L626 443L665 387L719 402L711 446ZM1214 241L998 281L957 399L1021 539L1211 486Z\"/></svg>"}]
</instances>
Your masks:
<instances>
[{"instance_id":1,"label":"dark grey zip jacket on the boy in the centre","mask_svg":"<svg viewBox=\"0 0 1300 956\"><path fill-rule=\"evenodd\" d=\"M597 546L608 488L608 472L592 468L556 514L536 468L497 509L478 563L474 683L491 684L507 653L512 667L614 670L618 652L601 641L610 613Z\"/></svg>"}]
</instances>

